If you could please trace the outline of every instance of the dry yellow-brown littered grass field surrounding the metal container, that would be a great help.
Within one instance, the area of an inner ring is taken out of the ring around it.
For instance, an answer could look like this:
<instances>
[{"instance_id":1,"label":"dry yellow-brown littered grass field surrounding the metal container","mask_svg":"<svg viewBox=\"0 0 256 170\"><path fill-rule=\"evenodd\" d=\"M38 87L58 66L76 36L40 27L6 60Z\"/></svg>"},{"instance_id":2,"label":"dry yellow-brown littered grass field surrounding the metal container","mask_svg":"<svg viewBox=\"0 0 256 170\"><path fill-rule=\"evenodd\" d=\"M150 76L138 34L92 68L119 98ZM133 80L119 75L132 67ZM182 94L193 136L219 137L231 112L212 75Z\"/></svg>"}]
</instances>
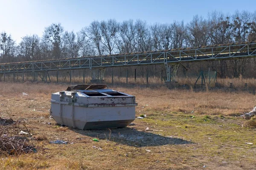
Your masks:
<instances>
[{"instance_id":1,"label":"dry yellow-brown littered grass field surrounding the metal container","mask_svg":"<svg viewBox=\"0 0 256 170\"><path fill-rule=\"evenodd\" d=\"M50 94L67 84L0 82L0 117L25 122L37 153L0 157L0 169L253 170L255 128L238 117L255 106L244 92L110 85L136 96L134 126L106 130L61 127L49 119ZM22 93L27 93L23 96ZM254 121L254 120L253 120ZM46 124L43 124L47 122ZM48 125L48 122L51 124ZM145 130L148 127L149 130ZM92 139L97 138L99 142ZM68 144L49 144L63 139ZM253 144L246 144L247 142Z\"/></svg>"}]
</instances>

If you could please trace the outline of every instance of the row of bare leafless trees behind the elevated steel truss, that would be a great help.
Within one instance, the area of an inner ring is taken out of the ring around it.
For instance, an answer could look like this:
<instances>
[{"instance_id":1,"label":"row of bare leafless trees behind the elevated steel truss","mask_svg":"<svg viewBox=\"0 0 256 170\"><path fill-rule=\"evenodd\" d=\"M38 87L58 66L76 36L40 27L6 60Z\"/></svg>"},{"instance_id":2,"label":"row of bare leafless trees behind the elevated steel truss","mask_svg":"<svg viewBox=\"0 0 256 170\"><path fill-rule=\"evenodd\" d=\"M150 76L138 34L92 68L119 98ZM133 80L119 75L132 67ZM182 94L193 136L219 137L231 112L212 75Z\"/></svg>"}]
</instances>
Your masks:
<instances>
[{"instance_id":1,"label":"row of bare leafless trees behind the elevated steel truss","mask_svg":"<svg viewBox=\"0 0 256 170\"><path fill-rule=\"evenodd\" d=\"M196 15L186 24L183 21L148 24L143 20L95 20L77 33L65 31L61 23L52 23L44 29L42 37L26 35L20 43L12 39L8 30L0 33L0 62L157 51L247 41L256 41L256 11L236 11L234 14L212 11L207 18ZM256 70L255 59L196 65L193 68L191 64L184 66L186 69L211 67L218 71L220 77L249 76L251 71Z\"/></svg>"}]
</instances>

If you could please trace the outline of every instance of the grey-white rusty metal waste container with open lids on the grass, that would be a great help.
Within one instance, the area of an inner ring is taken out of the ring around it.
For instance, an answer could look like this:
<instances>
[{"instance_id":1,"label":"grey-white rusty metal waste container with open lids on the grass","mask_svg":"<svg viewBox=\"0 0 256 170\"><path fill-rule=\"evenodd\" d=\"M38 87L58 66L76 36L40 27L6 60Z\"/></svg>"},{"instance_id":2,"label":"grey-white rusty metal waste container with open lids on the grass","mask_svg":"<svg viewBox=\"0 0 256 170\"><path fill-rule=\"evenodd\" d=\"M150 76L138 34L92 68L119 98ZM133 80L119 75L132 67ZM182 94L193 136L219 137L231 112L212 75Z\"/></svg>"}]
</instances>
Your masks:
<instances>
[{"instance_id":1,"label":"grey-white rusty metal waste container with open lids on the grass","mask_svg":"<svg viewBox=\"0 0 256 170\"><path fill-rule=\"evenodd\" d=\"M82 130L129 125L135 119L135 96L106 88L74 85L52 94L52 118L58 124Z\"/></svg>"}]
</instances>

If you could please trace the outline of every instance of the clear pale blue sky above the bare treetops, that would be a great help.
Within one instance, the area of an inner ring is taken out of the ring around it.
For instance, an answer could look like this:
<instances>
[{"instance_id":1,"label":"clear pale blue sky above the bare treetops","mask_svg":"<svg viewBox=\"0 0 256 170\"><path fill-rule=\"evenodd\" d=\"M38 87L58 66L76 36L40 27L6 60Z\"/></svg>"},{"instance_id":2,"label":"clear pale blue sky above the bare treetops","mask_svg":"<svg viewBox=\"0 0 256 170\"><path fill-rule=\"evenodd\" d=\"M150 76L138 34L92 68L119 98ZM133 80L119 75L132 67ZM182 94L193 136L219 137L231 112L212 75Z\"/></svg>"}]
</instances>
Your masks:
<instances>
[{"instance_id":1,"label":"clear pale blue sky above the bare treetops","mask_svg":"<svg viewBox=\"0 0 256 170\"><path fill-rule=\"evenodd\" d=\"M0 0L0 32L20 42L26 35L41 36L51 23L76 32L93 20L187 23L196 14L207 17L213 10L232 14L236 9L254 12L256 0Z\"/></svg>"}]
</instances>

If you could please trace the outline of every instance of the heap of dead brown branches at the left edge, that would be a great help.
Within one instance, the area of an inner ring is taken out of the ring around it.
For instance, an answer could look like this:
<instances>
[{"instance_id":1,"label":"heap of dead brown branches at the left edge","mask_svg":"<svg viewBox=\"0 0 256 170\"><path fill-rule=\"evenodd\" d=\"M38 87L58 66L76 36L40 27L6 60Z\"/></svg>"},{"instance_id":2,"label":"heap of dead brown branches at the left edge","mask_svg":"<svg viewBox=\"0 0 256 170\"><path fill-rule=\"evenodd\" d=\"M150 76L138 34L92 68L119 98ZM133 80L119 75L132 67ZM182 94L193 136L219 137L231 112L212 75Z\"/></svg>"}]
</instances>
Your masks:
<instances>
[{"instance_id":1,"label":"heap of dead brown branches at the left edge","mask_svg":"<svg viewBox=\"0 0 256 170\"><path fill-rule=\"evenodd\" d=\"M3 119L1 119L2 121ZM19 136L20 122L5 120L0 124L0 155L19 155L21 153L37 152L38 147L29 143L26 136ZM4 125L4 126L3 126Z\"/></svg>"}]
</instances>

